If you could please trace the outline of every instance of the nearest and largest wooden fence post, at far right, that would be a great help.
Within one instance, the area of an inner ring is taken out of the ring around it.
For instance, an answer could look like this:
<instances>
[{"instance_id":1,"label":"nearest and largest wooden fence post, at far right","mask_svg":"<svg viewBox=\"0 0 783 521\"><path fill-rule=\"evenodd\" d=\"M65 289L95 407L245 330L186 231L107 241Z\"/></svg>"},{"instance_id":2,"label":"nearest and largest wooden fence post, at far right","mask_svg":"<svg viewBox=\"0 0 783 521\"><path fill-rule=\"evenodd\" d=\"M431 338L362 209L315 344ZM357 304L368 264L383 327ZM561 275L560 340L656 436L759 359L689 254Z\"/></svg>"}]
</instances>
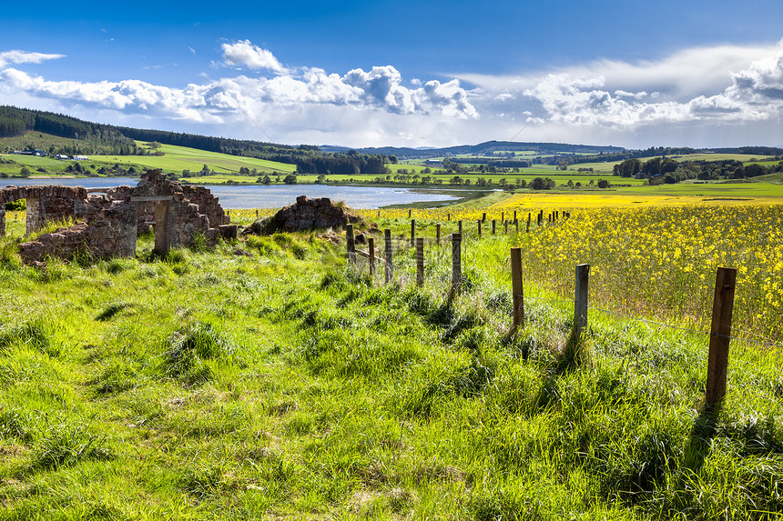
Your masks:
<instances>
[{"instance_id":1,"label":"nearest and largest wooden fence post, at far right","mask_svg":"<svg viewBox=\"0 0 783 521\"><path fill-rule=\"evenodd\" d=\"M734 311L734 290L737 270L717 268L715 298L712 302L712 326L709 330L707 361L707 404L717 404L726 396L728 341L731 336L731 316Z\"/></svg>"}]
</instances>

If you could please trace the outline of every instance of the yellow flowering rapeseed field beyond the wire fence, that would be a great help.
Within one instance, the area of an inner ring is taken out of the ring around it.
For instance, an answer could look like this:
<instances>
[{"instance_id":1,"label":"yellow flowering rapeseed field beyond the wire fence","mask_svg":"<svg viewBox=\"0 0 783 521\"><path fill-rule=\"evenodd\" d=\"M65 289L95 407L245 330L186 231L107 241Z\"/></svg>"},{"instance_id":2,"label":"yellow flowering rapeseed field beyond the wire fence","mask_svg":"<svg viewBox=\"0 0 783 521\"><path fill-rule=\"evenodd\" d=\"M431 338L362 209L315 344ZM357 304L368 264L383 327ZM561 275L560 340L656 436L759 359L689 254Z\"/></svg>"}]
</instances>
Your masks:
<instances>
[{"instance_id":1,"label":"yellow flowering rapeseed field beyond the wire fence","mask_svg":"<svg viewBox=\"0 0 783 521\"><path fill-rule=\"evenodd\" d=\"M462 220L475 235L475 221L514 218L508 242L519 245L524 278L531 287L570 298L577 264L591 265L591 304L629 316L708 329L717 267L737 268L734 326L737 336L783 341L783 204L778 198L717 199L699 196L515 194L486 208L413 209L412 218L447 223ZM544 211L544 225L535 217ZM561 218L548 223L554 210ZM356 210L369 222L406 220L407 209ZM562 218L568 212L569 219ZM261 210L259 215L272 211ZM528 213L531 233L525 233ZM249 222L255 210L232 210ZM484 234L489 232L489 223ZM505 251L493 255L507 255Z\"/></svg>"}]
</instances>

